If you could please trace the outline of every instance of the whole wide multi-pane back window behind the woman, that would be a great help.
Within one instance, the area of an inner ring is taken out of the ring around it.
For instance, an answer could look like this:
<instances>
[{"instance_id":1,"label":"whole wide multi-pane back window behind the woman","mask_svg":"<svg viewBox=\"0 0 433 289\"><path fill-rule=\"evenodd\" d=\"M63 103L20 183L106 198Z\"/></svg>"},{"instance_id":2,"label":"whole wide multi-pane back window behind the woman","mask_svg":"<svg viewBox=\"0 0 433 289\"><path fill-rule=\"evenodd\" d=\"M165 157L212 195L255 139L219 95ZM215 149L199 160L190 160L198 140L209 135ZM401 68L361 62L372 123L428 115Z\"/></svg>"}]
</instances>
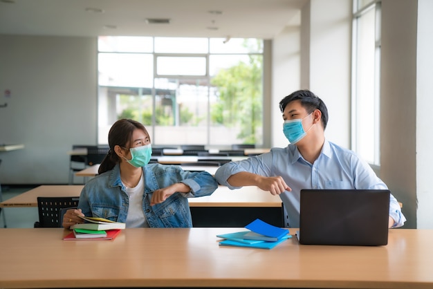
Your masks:
<instances>
[{"instance_id":1,"label":"whole wide multi-pane back window behind the woman","mask_svg":"<svg viewBox=\"0 0 433 289\"><path fill-rule=\"evenodd\" d=\"M98 142L120 118L154 145L263 143L263 40L100 37Z\"/></svg>"}]
</instances>

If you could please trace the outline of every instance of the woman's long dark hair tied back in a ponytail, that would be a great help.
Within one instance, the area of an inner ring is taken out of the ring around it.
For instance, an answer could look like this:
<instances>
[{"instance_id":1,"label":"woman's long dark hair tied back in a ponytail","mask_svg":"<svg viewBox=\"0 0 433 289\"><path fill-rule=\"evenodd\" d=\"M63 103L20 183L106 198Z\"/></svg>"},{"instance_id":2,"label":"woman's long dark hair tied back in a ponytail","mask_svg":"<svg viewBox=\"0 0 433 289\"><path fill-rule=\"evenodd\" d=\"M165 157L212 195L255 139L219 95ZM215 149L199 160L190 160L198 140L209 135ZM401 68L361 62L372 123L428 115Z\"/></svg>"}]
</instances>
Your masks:
<instances>
[{"instance_id":1,"label":"woman's long dark hair tied back in a ponytail","mask_svg":"<svg viewBox=\"0 0 433 289\"><path fill-rule=\"evenodd\" d=\"M141 129L149 136L147 129L144 125L140 124L140 122L136 122L135 120L127 120L123 118L122 120L118 120L113 124L109 131L109 153L105 156L104 160L102 160L101 165L98 169L98 174L102 174L105 171L109 171L113 169L113 167L120 162L119 156L114 151L114 147L116 145L120 147L131 147L130 142L132 138L132 133L136 129ZM150 140L150 136L149 136Z\"/></svg>"}]
</instances>

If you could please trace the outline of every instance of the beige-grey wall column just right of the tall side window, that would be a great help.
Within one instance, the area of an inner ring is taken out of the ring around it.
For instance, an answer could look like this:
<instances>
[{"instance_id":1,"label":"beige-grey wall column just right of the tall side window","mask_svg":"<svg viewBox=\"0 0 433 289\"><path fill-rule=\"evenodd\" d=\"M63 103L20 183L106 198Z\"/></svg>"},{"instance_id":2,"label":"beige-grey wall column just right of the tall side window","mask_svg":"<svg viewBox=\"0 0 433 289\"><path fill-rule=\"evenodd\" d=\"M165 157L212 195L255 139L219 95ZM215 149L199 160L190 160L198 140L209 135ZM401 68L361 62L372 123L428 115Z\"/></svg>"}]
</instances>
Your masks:
<instances>
[{"instance_id":1,"label":"beige-grey wall column just right of the tall side window","mask_svg":"<svg viewBox=\"0 0 433 289\"><path fill-rule=\"evenodd\" d=\"M416 227L417 1L382 1L380 176Z\"/></svg>"}]
</instances>

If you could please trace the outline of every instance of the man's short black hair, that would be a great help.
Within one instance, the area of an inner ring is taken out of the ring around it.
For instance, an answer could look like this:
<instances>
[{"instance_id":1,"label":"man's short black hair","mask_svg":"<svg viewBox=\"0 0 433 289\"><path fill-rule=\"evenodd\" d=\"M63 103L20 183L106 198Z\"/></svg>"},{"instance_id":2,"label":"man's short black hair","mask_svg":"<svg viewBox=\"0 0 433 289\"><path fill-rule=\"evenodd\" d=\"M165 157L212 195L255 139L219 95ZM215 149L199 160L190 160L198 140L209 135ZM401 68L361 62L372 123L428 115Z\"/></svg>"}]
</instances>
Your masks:
<instances>
[{"instance_id":1,"label":"man's short black hair","mask_svg":"<svg viewBox=\"0 0 433 289\"><path fill-rule=\"evenodd\" d=\"M295 100L301 101L301 105L306 109L307 113L312 113L315 109L320 110L322 112L323 129L326 129L326 124L328 123L328 109L326 109L326 105L317 95L306 89L295 91L291 95L284 97L281 102L279 102L279 109L281 112L284 112L287 104Z\"/></svg>"}]
</instances>

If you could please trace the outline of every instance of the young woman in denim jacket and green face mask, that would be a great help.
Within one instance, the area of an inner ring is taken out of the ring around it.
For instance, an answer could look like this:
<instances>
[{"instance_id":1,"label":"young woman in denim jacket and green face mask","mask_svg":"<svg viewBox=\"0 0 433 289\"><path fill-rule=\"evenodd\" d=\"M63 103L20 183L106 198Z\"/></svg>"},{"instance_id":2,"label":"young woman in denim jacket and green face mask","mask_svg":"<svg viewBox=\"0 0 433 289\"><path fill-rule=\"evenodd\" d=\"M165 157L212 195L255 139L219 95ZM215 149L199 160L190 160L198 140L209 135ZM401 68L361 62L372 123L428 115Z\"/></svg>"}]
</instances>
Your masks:
<instances>
[{"instance_id":1,"label":"young woman in denim jacket and green face mask","mask_svg":"<svg viewBox=\"0 0 433 289\"><path fill-rule=\"evenodd\" d=\"M98 176L84 185L77 209L64 214L63 227L83 223L78 215L107 218L127 227L192 227L187 198L208 196L218 187L208 172L149 164L149 133L135 120L113 124L109 147Z\"/></svg>"}]
</instances>

